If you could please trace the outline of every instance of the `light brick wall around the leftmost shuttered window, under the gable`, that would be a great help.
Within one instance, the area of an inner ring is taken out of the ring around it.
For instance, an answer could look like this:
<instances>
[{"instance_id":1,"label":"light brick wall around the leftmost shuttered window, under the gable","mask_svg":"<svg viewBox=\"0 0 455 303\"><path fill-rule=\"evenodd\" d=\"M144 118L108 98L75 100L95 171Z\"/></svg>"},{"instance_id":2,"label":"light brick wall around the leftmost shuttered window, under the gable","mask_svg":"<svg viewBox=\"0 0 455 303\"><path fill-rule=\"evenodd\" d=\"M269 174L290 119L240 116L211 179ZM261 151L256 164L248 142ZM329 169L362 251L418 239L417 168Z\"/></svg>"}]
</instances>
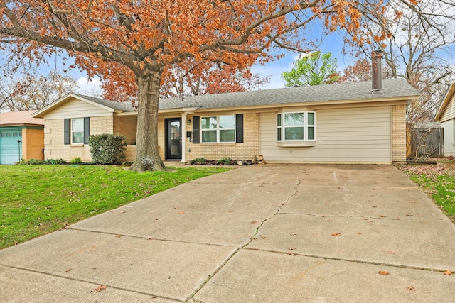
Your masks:
<instances>
[{"instance_id":1,"label":"light brick wall around the leftmost shuttered window, under the gable","mask_svg":"<svg viewBox=\"0 0 455 303\"><path fill-rule=\"evenodd\" d=\"M47 119L44 128L44 158L45 159L63 159L70 161L79 157L82 162L90 162L89 145L65 145L63 119ZM112 116L90 117L90 135L99 135L101 133L112 133Z\"/></svg>"}]
</instances>

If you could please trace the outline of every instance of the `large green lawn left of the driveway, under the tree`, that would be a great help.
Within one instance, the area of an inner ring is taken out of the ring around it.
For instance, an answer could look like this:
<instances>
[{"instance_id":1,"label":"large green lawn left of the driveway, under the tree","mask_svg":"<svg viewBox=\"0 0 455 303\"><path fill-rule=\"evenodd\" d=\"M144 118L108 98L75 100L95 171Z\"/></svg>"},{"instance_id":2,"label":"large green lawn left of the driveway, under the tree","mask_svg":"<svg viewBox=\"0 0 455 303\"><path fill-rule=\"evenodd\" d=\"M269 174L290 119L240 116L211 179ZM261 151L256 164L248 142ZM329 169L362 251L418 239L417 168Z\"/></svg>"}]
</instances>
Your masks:
<instances>
[{"instance_id":1,"label":"large green lawn left of the driveway, under the tree","mask_svg":"<svg viewBox=\"0 0 455 303\"><path fill-rule=\"evenodd\" d=\"M137 173L100 165L0 166L0 249L228 168Z\"/></svg>"}]
</instances>

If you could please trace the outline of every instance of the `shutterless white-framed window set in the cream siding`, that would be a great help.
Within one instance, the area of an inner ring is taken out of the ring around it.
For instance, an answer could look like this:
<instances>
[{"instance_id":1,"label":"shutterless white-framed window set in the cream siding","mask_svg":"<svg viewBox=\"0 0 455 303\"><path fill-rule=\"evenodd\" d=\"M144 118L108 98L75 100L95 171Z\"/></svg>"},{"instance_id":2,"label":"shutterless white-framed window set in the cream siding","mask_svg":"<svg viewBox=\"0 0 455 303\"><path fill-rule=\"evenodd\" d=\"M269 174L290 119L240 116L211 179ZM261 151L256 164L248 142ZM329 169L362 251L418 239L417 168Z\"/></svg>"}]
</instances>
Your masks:
<instances>
[{"instance_id":1,"label":"shutterless white-framed window set in the cream siding","mask_svg":"<svg viewBox=\"0 0 455 303\"><path fill-rule=\"evenodd\" d=\"M277 114L277 141L316 141L313 111Z\"/></svg>"}]
</instances>

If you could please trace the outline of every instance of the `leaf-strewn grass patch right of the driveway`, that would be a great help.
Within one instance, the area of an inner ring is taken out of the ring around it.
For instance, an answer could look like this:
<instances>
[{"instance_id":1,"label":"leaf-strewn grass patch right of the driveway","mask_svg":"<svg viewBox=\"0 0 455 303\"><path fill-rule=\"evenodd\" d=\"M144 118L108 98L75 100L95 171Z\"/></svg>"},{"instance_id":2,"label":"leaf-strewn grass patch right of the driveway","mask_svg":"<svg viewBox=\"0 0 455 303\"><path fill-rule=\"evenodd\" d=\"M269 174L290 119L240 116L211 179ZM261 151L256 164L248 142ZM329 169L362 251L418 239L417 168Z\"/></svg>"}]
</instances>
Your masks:
<instances>
[{"instance_id":1,"label":"leaf-strewn grass patch right of the driveway","mask_svg":"<svg viewBox=\"0 0 455 303\"><path fill-rule=\"evenodd\" d=\"M400 170L432 197L444 214L455 222L455 162L438 160L437 165L401 165Z\"/></svg>"}]
</instances>

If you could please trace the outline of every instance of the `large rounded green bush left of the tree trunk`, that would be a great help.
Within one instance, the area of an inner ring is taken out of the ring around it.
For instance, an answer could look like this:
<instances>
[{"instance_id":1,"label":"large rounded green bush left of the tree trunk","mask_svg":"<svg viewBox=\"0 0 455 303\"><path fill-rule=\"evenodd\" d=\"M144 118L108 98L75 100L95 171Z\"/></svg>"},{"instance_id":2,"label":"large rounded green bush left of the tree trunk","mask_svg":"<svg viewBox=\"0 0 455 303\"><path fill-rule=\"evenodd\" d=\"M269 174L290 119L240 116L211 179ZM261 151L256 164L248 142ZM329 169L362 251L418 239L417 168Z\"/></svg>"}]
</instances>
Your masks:
<instances>
[{"instance_id":1,"label":"large rounded green bush left of the tree trunk","mask_svg":"<svg viewBox=\"0 0 455 303\"><path fill-rule=\"evenodd\" d=\"M109 133L90 135L88 145L90 146L92 160L97 164L122 163L124 151L127 149L124 136Z\"/></svg>"}]
</instances>

